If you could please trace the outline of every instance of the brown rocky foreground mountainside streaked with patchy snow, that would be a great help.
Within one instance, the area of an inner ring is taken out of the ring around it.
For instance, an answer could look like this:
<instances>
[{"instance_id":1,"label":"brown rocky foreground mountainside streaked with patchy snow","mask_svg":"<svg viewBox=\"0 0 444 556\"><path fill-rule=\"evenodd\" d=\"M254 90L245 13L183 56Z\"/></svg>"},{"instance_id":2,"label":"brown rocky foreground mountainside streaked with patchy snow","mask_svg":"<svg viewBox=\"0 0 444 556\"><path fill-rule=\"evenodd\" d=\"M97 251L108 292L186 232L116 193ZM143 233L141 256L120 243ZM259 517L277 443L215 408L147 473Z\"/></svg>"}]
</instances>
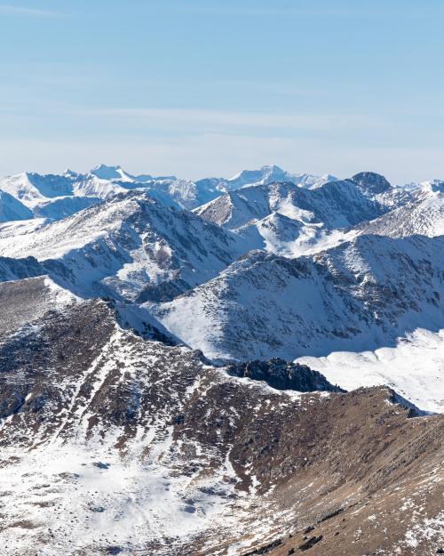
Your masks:
<instances>
[{"instance_id":1,"label":"brown rocky foreground mountainside streaked with patchy snow","mask_svg":"<svg viewBox=\"0 0 444 556\"><path fill-rule=\"evenodd\" d=\"M443 415L386 387L228 375L47 278L0 285L0 305L16 315L0 335L6 556L444 548Z\"/></svg>"}]
</instances>

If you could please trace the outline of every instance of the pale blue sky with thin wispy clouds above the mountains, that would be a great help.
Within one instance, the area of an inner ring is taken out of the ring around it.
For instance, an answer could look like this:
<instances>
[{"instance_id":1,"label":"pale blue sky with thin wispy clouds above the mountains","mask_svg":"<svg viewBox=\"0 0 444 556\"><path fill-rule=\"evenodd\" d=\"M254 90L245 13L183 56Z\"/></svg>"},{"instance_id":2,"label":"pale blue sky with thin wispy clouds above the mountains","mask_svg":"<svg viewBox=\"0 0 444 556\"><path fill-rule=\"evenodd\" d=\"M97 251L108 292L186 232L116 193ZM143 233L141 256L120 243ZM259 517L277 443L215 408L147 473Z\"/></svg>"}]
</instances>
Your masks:
<instances>
[{"instance_id":1,"label":"pale blue sky with thin wispy clouds above the mountains","mask_svg":"<svg viewBox=\"0 0 444 556\"><path fill-rule=\"evenodd\" d=\"M444 178L441 0L0 0L0 174Z\"/></svg>"}]
</instances>

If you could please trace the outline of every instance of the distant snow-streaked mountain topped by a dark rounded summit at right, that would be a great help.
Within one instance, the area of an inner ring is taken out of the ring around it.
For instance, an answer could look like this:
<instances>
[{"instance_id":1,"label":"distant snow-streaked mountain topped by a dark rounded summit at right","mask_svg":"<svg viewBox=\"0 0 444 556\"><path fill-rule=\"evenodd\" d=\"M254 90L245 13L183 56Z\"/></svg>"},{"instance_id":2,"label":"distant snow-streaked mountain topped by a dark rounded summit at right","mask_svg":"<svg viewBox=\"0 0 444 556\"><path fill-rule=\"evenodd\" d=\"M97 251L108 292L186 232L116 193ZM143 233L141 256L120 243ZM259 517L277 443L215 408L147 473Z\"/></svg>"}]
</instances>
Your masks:
<instances>
[{"instance_id":1,"label":"distant snow-streaked mountain topped by a dark rounded summit at right","mask_svg":"<svg viewBox=\"0 0 444 556\"><path fill-rule=\"evenodd\" d=\"M377 233L373 228L377 218L385 222L385 214L390 218L395 209L417 203L418 196L392 188L377 173L362 172L308 190L289 182L244 187L226 192L194 213L235 230L251 246L296 257L339 245L364 230ZM438 206L433 210L438 212Z\"/></svg>"}]
</instances>

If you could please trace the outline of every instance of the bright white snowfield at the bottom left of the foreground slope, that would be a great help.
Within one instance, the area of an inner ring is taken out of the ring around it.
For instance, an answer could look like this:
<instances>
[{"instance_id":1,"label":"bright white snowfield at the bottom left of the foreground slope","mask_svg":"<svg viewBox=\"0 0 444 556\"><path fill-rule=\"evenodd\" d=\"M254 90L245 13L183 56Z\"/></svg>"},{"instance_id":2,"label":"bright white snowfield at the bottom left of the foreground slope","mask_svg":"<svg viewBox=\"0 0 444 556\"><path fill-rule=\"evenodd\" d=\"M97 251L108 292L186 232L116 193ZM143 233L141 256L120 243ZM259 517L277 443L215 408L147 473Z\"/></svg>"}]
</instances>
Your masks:
<instances>
[{"instance_id":1,"label":"bright white snowfield at the bottom left of the foreground slope","mask_svg":"<svg viewBox=\"0 0 444 556\"><path fill-rule=\"evenodd\" d=\"M0 531L4 550L19 556L38 546L39 554L52 556L71 553L72 546L94 554L119 547L131 554L159 539L181 543L218 520L234 525L231 504L203 494L204 481L171 472L170 445L167 435L143 463L93 443L54 443L26 457L4 450L2 460L16 462L0 476L0 500L9 508ZM229 496L231 472L221 470L219 483L212 479L210 487Z\"/></svg>"}]
</instances>

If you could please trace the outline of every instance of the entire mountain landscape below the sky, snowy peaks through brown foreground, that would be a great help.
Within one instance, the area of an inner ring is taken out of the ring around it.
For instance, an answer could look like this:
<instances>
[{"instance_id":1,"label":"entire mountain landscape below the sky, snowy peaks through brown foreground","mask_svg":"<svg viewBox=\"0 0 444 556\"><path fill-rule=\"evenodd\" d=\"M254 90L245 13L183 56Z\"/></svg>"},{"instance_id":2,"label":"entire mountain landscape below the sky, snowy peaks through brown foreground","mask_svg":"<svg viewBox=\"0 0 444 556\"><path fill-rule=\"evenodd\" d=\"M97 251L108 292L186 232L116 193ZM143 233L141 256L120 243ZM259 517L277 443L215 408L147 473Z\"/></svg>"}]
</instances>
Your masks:
<instances>
[{"instance_id":1,"label":"entire mountain landscape below the sky, snowy peaks through brown foreground","mask_svg":"<svg viewBox=\"0 0 444 556\"><path fill-rule=\"evenodd\" d=\"M444 181L0 178L5 556L444 553Z\"/></svg>"}]
</instances>

